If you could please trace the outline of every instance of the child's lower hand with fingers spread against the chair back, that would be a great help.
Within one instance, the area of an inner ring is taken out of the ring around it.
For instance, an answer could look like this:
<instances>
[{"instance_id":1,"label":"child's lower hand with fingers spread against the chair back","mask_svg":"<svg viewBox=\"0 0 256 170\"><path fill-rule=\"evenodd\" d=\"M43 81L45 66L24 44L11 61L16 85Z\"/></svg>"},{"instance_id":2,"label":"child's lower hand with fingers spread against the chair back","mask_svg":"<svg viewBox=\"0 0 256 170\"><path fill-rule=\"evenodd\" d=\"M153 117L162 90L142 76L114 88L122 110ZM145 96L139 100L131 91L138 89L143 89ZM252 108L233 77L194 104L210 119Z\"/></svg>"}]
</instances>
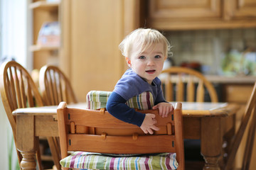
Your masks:
<instances>
[{"instance_id":1,"label":"child's lower hand with fingers spread against the chair back","mask_svg":"<svg viewBox=\"0 0 256 170\"><path fill-rule=\"evenodd\" d=\"M143 130L144 133L153 134L153 130L159 130L154 124L156 124L156 120L154 119L156 115L151 113L146 113L144 121L140 128Z\"/></svg>"}]
</instances>

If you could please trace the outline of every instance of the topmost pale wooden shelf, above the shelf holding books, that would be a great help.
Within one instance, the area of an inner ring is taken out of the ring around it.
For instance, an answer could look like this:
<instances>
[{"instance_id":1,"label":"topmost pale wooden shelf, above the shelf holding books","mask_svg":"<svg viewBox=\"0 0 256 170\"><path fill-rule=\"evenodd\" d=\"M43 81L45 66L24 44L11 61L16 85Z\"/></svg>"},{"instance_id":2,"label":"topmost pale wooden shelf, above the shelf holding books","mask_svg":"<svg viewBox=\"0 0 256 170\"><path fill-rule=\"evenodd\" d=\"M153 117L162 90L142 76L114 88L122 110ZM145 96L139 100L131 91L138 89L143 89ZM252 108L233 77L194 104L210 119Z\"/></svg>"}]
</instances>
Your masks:
<instances>
[{"instance_id":1,"label":"topmost pale wooden shelf, above the shelf holding books","mask_svg":"<svg viewBox=\"0 0 256 170\"><path fill-rule=\"evenodd\" d=\"M30 4L29 8L44 9L44 10L52 11L52 10L57 10L59 4L60 4L60 1L54 1L54 2L36 1L32 4Z\"/></svg>"}]
</instances>

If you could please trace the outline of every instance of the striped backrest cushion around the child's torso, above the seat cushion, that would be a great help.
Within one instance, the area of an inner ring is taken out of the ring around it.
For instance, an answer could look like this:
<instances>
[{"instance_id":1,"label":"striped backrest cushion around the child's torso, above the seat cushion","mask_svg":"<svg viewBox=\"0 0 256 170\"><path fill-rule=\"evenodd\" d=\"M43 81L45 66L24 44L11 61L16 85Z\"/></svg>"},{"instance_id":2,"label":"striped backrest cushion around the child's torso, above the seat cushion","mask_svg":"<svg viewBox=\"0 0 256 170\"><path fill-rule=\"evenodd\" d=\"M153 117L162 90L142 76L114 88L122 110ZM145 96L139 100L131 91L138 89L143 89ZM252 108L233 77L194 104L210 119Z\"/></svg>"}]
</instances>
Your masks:
<instances>
[{"instance_id":1,"label":"striped backrest cushion around the child's torso, above the seat cushion","mask_svg":"<svg viewBox=\"0 0 256 170\"><path fill-rule=\"evenodd\" d=\"M109 98L111 91L89 91L87 94L87 108L97 110L105 108L107 98ZM149 110L154 106L154 98L150 91L144 91L138 96L134 96L127 101L130 108L138 108L139 110Z\"/></svg>"}]
</instances>

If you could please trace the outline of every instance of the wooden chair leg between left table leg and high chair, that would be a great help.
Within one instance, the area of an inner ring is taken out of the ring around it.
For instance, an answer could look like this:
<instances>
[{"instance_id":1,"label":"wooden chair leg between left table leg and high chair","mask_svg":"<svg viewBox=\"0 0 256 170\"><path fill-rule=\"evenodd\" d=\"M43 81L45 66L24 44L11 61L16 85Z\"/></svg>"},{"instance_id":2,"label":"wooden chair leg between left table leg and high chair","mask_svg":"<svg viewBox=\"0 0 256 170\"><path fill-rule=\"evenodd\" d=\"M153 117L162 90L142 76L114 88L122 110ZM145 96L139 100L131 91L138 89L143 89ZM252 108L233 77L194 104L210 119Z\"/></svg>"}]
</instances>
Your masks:
<instances>
[{"instance_id":1,"label":"wooden chair leg between left table leg and high chair","mask_svg":"<svg viewBox=\"0 0 256 170\"><path fill-rule=\"evenodd\" d=\"M60 167L60 148L58 145L58 137L47 137L48 144L50 147L50 152L53 157L53 162L57 169L61 169Z\"/></svg>"}]
</instances>

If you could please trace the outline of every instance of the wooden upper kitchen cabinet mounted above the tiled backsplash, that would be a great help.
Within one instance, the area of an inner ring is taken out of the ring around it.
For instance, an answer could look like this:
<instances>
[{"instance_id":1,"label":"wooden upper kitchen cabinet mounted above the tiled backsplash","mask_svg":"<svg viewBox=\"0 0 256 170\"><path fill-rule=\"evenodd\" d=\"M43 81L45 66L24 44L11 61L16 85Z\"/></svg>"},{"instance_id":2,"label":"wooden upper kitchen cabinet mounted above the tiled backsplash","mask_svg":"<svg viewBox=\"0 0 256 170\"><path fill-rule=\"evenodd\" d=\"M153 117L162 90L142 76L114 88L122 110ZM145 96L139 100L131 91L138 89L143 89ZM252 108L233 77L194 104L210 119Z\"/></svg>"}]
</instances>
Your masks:
<instances>
[{"instance_id":1,"label":"wooden upper kitchen cabinet mounted above the tiled backsplash","mask_svg":"<svg viewBox=\"0 0 256 170\"><path fill-rule=\"evenodd\" d=\"M147 26L159 30L250 28L255 0L148 0Z\"/></svg>"}]
</instances>

